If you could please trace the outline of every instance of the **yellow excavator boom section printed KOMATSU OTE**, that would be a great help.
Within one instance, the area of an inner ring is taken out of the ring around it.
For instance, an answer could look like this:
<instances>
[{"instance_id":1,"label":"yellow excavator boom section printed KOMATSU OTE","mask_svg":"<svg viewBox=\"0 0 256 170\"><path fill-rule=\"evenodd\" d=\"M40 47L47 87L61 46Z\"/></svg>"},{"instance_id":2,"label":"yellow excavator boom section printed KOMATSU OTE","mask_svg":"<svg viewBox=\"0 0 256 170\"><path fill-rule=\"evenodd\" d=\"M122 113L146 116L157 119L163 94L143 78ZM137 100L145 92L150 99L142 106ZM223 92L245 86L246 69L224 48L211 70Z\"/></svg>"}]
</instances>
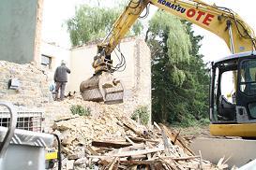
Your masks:
<instances>
[{"instance_id":1,"label":"yellow excavator boom section printed KOMATSU OTE","mask_svg":"<svg viewBox=\"0 0 256 170\"><path fill-rule=\"evenodd\" d=\"M255 48L253 30L227 7L211 6L198 0L151 0L150 3L218 35L232 53Z\"/></svg>"}]
</instances>

